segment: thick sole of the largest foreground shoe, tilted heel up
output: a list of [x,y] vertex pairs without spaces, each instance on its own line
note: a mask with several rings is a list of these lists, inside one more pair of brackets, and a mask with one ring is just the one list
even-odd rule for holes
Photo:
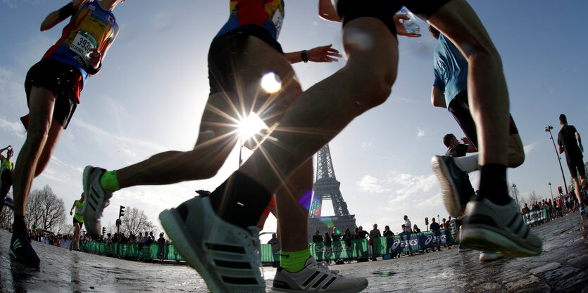
[[[187,228],[184,226],[184,222],[180,219],[175,209],[162,211],[159,214],[159,221],[161,221],[163,230],[165,230],[165,233],[168,233],[168,237],[173,241],[173,245],[177,249],[177,252],[180,253],[180,256],[182,256],[182,259],[198,271],[211,292],[230,292],[230,289],[234,289],[227,289],[223,285],[224,282],[217,277],[213,268],[208,266],[208,259],[204,256],[204,250],[199,241],[187,233]],[[265,292],[265,286],[263,288],[259,287],[258,289],[254,287],[239,289],[240,291]]]

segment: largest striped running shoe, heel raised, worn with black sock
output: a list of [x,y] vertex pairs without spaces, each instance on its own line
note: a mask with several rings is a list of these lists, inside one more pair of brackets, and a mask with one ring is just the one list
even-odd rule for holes
[[194,197],[159,214],[182,258],[212,292],[265,292],[259,228],[247,230],[220,219],[210,197]]

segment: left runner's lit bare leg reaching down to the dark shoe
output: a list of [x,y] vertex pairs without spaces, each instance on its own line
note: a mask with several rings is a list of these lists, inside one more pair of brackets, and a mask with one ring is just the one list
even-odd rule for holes
[[25,215],[37,162],[49,136],[55,97],[48,89],[33,86],[30,93],[30,120],[27,138],[20,149],[13,174],[14,214]]

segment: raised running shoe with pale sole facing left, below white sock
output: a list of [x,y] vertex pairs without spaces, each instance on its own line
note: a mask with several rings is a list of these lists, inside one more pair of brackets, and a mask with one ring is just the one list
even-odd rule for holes
[[458,218],[471,197],[471,194],[465,194],[462,188],[463,178],[467,174],[459,169],[453,157],[434,156],[431,159],[431,167],[441,184],[441,196],[445,208],[451,216]]

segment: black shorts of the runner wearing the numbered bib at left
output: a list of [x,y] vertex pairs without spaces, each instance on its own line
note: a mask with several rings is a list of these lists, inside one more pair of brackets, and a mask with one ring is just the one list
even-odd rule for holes
[[[32,65],[25,79],[25,91],[27,93],[27,105],[30,102],[32,86],[49,89],[55,96],[53,119],[63,129],[68,127],[73,112],[77,107],[82,91],[82,75],[80,70],[73,65],[46,58]],[[20,118],[28,129],[28,115]]]

